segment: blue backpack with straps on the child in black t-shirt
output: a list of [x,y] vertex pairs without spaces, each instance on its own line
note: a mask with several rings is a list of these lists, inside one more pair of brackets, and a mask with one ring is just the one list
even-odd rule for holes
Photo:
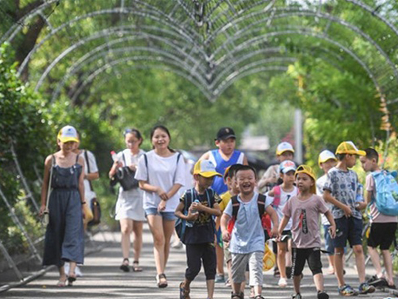
[[[206,198],[207,198],[207,203],[208,207],[211,208],[211,198],[214,197],[215,191],[213,189],[206,189]],[[185,191],[184,195],[184,210],[183,214],[188,215],[188,209],[191,206],[191,203],[195,201],[195,199],[198,198],[198,193],[195,191],[194,188],[189,189]],[[185,244],[185,233],[186,233],[186,228],[187,227],[193,227],[194,223],[192,221],[186,221],[185,219],[178,218],[175,224],[175,229],[177,236],[180,238],[180,241]],[[211,225],[213,228],[215,227],[214,225],[214,220],[211,219]]]

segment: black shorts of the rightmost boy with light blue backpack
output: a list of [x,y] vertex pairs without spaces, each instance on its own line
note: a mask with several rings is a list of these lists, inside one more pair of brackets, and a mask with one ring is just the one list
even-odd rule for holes
[[372,223],[368,238],[368,246],[376,248],[380,246],[381,250],[388,250],[394,242],[397,222]]

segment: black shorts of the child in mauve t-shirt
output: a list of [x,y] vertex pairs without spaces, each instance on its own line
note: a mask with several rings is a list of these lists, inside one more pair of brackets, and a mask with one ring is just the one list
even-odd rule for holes
[[320,248],[292,248],[292,273],[299,276],[308,261],[312,275],[322,273],[322,262],[320,261]]

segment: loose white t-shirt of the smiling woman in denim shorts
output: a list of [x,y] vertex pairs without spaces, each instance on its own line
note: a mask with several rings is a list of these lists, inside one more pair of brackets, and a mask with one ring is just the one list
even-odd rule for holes
[[[135,178],[147,181],[152,186],[161,187],[165,192],[168,192],[174,184],[184,186],[186,181],[185,163],[182,155],[177,163],[178,155],[179,153],[176,152],[170,157],[165,158],[157,155],[153,150],[147,152],[148,168],[145,165],[145,156],[140,157]],[[144,191],[144,209],[157,209],[160,201],[161,199],[156,192]],[[176,192],[173,197],[166,201],[164,212],[174,212],[178,203],[179,192]]]

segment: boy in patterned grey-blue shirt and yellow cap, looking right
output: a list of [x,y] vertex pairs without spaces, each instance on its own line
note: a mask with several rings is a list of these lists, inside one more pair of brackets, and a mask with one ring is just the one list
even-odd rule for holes
[[327,173],[327,179],[323,186],[323,199],[330,202],[333,218],[337,226],[336,238],[333,240],[335,247],[334,264],[338,281],[338,291],[343,296],[357,295],[344,281],[344,247],[347,240],[355,253],[355,262],[358,270],[359,293],[367,294],[375,291],[375,287],[365,282],[365,257],[362,249],[362,214],[360,209],[366,205],[357,201],[362,198],[359,188],[358,176],[349,168],[356,164],[357,156],[364,156],[363,150],[357,149],[352,141],[342,142],[336,150],[338,163]]

